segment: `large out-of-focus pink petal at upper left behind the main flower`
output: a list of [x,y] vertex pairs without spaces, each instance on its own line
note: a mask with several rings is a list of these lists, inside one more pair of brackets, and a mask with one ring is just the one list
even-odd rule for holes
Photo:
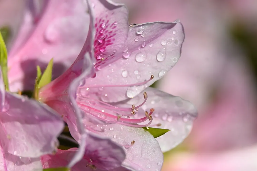
[[48,2],[26,43],[9,54],[12,91],[34,88],[36,65],[44,69],[53,57],[54,78],[70,67],[86,40],[89,25],[86,8],[80,0]]

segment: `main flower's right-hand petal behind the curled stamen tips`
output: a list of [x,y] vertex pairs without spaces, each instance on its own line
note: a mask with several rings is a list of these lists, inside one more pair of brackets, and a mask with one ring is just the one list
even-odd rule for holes
[[[144,111],[149,111],[151,108],[154,108],[152,114],[153,121],[149,127],[171,130],[156,138],[162,152],[167,152],[180,144],[190,133],[193,121],[197,117],[196,108],[187,100],[151,87],[148,87],[145,92],[148,95],[148,99],[142,107],[138,108],[137,115],[134,117],[140,118],[145,115]],[[130,100],[119,102],[114,106],[131,107],[131,105],[139,103],[141,98],[143,100],[142,95],[139,95]],[[146,121],[146,123],[148,122],[149,121]],[[144,125],[145,123],[139,124]]]

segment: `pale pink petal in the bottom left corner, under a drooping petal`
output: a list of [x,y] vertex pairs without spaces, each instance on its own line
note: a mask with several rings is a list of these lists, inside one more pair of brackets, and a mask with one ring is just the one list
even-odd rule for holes
[[[1,143],[1,142],[0,142]],[[14,156],[2,148],[0,145],[0,170],[3,171],[28,171],[42,169],[40,158],[26,158]]]

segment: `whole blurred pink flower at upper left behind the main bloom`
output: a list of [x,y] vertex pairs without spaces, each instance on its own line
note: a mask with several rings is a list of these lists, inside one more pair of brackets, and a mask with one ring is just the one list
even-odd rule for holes
[[[89,15],[83,1],[29,0],[1,4],[0,11],[4,13],[1,16],[7,17],[1,17],[0,27],[9,27],[11,35],[15,36],[8,45],[11,91],[33,89],[36,65],[45,68],[52,57],[53,77],[66,71],[76,59],[88,32]],[[5,14],[7,12],[10,15]]]

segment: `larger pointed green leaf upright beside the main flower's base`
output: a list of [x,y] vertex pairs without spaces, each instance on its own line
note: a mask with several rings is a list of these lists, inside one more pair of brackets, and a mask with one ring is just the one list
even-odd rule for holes
[[38,81],[38,89],[47,85],[52,81],[52,70],[53,70],[53,58],[50,60],[47,68],[45,69],[43,75],[41,76],[40,80]]

